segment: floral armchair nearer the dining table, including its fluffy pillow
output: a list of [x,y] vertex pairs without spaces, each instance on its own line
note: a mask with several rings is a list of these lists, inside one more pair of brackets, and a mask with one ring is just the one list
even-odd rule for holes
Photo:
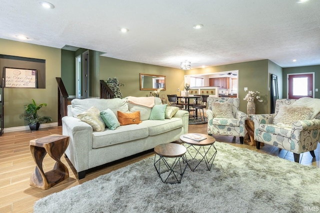
[[239,136],[240,143],[243,144],[247,115],[239,111],[239,99],[208,97],[207,106],[208,134]]

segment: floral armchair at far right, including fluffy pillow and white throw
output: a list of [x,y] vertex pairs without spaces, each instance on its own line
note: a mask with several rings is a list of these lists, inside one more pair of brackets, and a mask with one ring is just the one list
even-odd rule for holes
[[320,136],[320,99],[278,99],[274,114],[251,115],[256,148],[260,142],[293,152],[299,163],[300,153],[314,151]]

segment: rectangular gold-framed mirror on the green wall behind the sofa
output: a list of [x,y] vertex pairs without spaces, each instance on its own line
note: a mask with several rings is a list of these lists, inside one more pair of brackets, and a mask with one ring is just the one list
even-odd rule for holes
[[140,73],[140,90],[165,90],[165,76]]

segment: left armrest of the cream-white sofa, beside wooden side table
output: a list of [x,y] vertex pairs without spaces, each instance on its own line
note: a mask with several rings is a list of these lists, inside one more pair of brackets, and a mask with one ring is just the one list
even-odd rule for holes
[[62,118],[62,135],[69,136],[69,145],[65,151],[77,172],[89,168],[89,151],[92,149],[92,127],[78,118]]

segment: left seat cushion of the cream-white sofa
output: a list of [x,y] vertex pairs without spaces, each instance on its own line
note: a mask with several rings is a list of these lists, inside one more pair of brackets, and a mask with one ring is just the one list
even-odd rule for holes
[[[97,149],[114,144],[125,143],[148,137],[148,128],[142,124],[119,126],[115,130],[105,129],[103,132],[93,132],[92,148]],[[123,150],[125,152],[125,150]]]

